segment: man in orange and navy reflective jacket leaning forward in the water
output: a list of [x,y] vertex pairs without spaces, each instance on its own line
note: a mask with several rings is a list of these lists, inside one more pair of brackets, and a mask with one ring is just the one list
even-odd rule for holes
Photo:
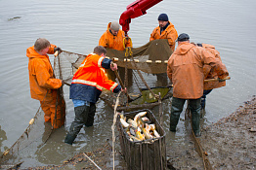
[[75,72],[70,85],[70,99],[73,101],[75,118],[64,139],[72,145],[83,125],[92,126],[98,101],[103,88],[119,92],[121,86],[108,80],[105,69],[117,70],[117,65],[106,58],[106,49],[97,46],[93,53],[87,55],[81,66]]

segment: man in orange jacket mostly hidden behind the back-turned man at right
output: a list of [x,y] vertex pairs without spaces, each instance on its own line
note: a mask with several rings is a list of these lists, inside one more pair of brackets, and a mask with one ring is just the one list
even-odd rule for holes
[[[217,51],[214,46],[208,45],[208,44],[194,44],[194,45],[197,47],[204,48],[206,51],[211,52],[216,58],[218,58],[220,61],[222,61],[220,52]],[[204,74],[204,80],[218,78],[216,70],[214,68],[210,67],[209,65],[203,66],[203,74]],[[219,88],[219,87],[222,87],[225,85],[226,85],[226,81],[205,82],[203,84],[203,95],[201,97],[201,109],[205,109],[206,95],[208,95],[212,91],[213,88]]]

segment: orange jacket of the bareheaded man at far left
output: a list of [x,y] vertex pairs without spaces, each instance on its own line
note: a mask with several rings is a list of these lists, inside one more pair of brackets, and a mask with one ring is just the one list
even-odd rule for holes
[[[47,53],[53,54],[55,45]],[[62,86],[60,79],[55,79],[49,56],[41,55],[30,47],[26,50],[31,98],[40,101],[52,100],[52,90]],[[48,91],[48,92],[47,92]],[[47,96],[46,96],[47,93]]]

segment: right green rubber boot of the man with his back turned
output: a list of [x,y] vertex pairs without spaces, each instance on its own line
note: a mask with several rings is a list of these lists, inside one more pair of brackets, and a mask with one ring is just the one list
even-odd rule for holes
[[190,100],[190,109],[192,112],[192,130],[195,137],[200,137],[200,99]]

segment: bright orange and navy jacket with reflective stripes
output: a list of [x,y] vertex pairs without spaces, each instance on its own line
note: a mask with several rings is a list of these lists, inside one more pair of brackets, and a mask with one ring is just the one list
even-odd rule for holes
[[110,62],[110,59],[95,53],[87,55],[73,76],[69,98],[96,103],[104,88],[118,92],[121,86],[108,80],[105,74]]

